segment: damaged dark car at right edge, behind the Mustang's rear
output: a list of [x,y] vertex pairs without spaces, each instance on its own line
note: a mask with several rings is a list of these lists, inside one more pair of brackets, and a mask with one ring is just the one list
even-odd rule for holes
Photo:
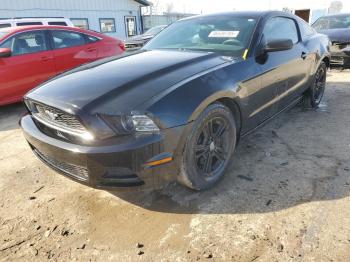
[[329,37],[331,64],[350,68],[350,14],[323,16],[312,26]]

